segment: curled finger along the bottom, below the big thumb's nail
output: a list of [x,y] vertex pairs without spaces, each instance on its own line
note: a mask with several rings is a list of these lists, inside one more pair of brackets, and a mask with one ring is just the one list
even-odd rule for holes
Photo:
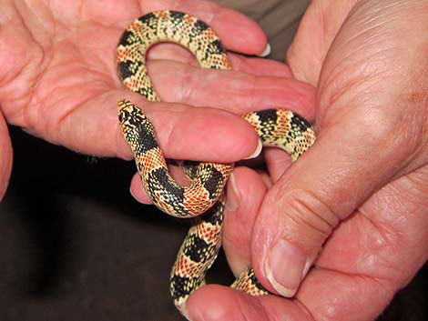
[[204,286],[189,297],[189,316],[193,321],[375,319],[427,259],[427,176],[425,166],[394,181],[365,203],[365,215],[343,222],[294,299]]

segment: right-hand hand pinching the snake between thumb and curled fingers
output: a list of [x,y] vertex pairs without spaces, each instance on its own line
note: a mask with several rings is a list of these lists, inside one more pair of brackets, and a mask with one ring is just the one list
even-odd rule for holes
[[235,170],[223,238],[235,275],[251,263],[272,293],[298,291],[203,286],[193,321],[372,320],[412,279],[428,255],[427,35],[425,1],[311,3],[288,60],[318,87],[318,140],[283,175],[267,151],[269,189]]

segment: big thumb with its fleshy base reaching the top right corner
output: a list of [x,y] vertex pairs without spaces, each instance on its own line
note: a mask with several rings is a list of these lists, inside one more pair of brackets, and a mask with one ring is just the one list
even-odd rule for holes
[[422,2],[396,2],[379,15],[387,4],[361,2],[341,26],[319,77],[318,140],[260,206],[251,261],[263,286],[282,296],[294,295],[341,220],[427,162],[426,17]]

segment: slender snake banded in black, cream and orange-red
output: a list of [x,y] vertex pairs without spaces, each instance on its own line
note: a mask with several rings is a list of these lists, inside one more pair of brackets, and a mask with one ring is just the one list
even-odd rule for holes
[[[219,36],[199,18],[162,10],[138,17],[127,26],[117,45],[117,74],[122,84],[148,101],[160,98],[151,84],[146,56],[151,45],[172,42],[188,48],[200,67],[232,69]],[[143,109],[127,99],[117,102],[121,132],[129,145],[148,196],[170,216],[193,217],[171,270],[169,289],[174,304],[185,313],[188,297],[205,284],[209,267],[219,254],[225,207],[225,186],[233,164],[182,161],[189,184],[180,185],[169,174],[154,126]],[[261,109],[242,117],[254,127],[263,146],[276,146],[295,161],[314,144],[316,134],[301,115],[283,108]],[[191,124],[191,119],[189,119]],[[201,142],[203,144],[203,142]],[[269,294],[249,266],[231,285],[252,296]]]

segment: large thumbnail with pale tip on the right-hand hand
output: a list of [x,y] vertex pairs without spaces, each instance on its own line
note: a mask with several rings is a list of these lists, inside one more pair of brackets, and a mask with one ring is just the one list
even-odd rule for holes
[[281,296],[291,297],[301,283],[305,264],[306,255],[301,248],[280,239],[270,249],[265,273],[270,284]]

